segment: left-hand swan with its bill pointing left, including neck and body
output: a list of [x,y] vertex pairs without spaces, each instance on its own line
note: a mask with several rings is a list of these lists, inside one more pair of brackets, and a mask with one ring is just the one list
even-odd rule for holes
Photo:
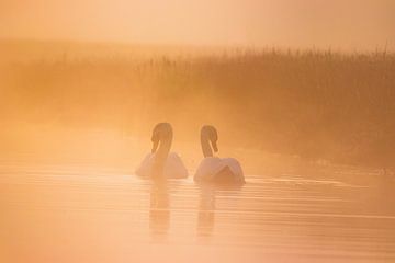
[[[153,150],[143,160],[136,174],[140,178],[188,178],[188,171],[181,158],[170,152],[172,127],[169,123],[159,123],[153,130]],[[160,142],[160,144],[159,144]]]

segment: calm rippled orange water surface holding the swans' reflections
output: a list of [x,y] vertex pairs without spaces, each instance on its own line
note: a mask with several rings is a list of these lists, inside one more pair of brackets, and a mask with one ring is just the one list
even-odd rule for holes
[[394,179],[330,169],[233,188],[2,160],[0,262],[395,262]]

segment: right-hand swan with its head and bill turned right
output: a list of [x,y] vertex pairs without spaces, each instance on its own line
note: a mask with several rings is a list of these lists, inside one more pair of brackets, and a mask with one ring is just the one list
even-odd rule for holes
[[[196,170],[194,181],[244,184],[242,169],[236,159],[213,157],[213,150],[218,151],[217,140],[218,134],[215,127],[210,125],[202,127],[201,145],[204,159]],[[210,146],[210,141],[212,146]]]

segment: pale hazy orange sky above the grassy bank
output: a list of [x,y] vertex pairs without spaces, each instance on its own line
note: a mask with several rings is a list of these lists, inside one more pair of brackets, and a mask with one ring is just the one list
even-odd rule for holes
[[0,37],[395,49],[395,1],[1,0]]

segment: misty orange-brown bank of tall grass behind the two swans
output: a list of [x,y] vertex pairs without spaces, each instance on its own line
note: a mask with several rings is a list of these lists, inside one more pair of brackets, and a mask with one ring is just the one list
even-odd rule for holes
[[1,64],[1,118],[135,135],[169,121],[184,140],[212,123],[235,147],[395,163],[394,54],[238,49],[71,57]]

